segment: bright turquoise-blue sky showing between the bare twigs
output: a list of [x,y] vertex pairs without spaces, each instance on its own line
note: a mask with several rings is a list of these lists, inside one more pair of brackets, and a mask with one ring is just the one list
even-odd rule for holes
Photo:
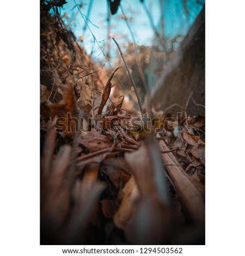
[[[95,38],[100,44],[100,47],[94,41],[93,35],[87,28],[84,34],[84,20],[82,15],[87,15],[90,0],[66,0],[68,2],[61,9],[61,14],[67,13],[69,20],[72,21],[72,31],[77,38],[83,35],[83,46],[88,54],[92,54],[94,59],[102,59],[103,51],[106,52],[107,44],[107,0],[93,0],[91,6],[91,12],[88,22],[88,26]],[[159,0],[144,0],[146,7],[151,13],[154,25],[157,29],[160,29],[160,1]],[[202,6],[200,4],[193,4],[195,0],[187,0],[187,10],[191,15],[187,19],[185,10],[183,9],[182,0],[164,0],[163,1],[163,13],[164,13],[164,29],[167,37],[174,37],[177,34],[186,34],[189,26],[195,20],[195,17],[199,14]],[[205,2],[205,1],[200,1]],[[75,7],[75,3],[78,5],[82,3],[81,13]],[[75,8],[74,8],[75,7]],[[150,25],[149,17],[146,15],[145,10],[139,0],[121,0],[121,7],[124,10],[130,23],[130,27],[134,34],[137,44],[139,45],[152,45],[152,39],[154,38],[154,31]],[[129,40],[133,42],[130,31],[127,28],[126,22],[121,19],[121,10],[118,9],[117,14],[111,16],[111,35],[114,36],[118,43],[123,47],[125,42]],[[111,54],[115,56],[117,47],[111,40],[109,42],[111,46]]]

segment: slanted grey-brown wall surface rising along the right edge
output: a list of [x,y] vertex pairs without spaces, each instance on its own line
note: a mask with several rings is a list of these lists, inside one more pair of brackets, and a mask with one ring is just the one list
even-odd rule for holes
[[[152,97],[153,102],[161,103],[164,110],[174,103],[185,107],[192,92],[195,102],[205,105],[205,6],[160,78]],[[181,110],[175,107],[171,112]],[[205,108],[195,105],[192,99],[186,110],[191,115],[205,115]]]

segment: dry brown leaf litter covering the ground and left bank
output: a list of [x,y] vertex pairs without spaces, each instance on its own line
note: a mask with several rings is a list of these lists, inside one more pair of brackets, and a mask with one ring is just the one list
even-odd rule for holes
[[41,21],[41,70],[55,80],[41,80],[41,244],[204,244],[205,118],[168,125],[161,112],[163,125],[132,134],[137,113],[111,95],[119,68],[98,75],[65,28],[48,32],[52,21]]

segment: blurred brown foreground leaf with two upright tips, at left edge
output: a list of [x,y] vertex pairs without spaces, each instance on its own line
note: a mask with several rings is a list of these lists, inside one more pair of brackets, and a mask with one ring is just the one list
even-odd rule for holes
[[[51,126],[52,127],[52,126]],[[70,162],[71,146],[63,145],[53,160],[55,132],[54,127],[48,128],[44,155],[41,159],[41,234],[51,235],[50,241],[58,239],[58,227],[62,225],[70,208],[69,186],[66,186],[66,170]],[[51,129],[51,130],[50,130]],[[49,167],[48,167],[49,166]],[[48,170],[48,172],[47,172]],[[54,235],[55,234],[55,235]]]

